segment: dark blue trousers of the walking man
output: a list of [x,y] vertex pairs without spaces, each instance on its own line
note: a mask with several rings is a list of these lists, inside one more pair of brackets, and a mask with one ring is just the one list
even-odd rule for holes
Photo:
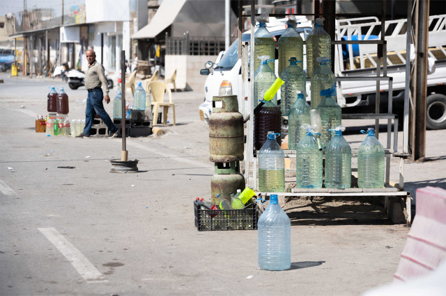
[[99,115],[101,120],[104,120],[111,133],[116,132],[118,129],[114,126],[107,112],[105,112],[104,104],[102,104],[104,100],[102,88],[93,88],[93,90],[88,91],[89,96],[86,99],[84,135],[90,135],[91,126],[93,125],[96,114]]

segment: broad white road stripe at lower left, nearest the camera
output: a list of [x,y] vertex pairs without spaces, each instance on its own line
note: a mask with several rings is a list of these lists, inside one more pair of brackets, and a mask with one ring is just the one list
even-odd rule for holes
[[89,283],[106,282],[104,274],[87,259],[75,246],[53,227],[38,228],[52,244],[70,261],[77,272]]

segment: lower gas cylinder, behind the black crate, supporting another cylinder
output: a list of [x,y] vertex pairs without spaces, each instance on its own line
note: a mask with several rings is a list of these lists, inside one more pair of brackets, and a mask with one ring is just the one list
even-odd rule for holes
[[217,203],[217,195],[231,202],[230,194],[236,194],[237,189],[245,189],[245,177],[240,174],[240,163],[215,163],[215,174],[210,179],[211,201]]

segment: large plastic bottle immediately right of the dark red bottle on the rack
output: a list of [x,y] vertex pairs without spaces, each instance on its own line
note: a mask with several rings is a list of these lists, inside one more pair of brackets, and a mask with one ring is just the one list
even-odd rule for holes
[[306,131],[301,129],[302,124],[310,124],[310,107],[305,99],[308,97],[306,92],[300,92],[298,99],[288,113],[288,147],[295,150],[300,140],[305,137]]

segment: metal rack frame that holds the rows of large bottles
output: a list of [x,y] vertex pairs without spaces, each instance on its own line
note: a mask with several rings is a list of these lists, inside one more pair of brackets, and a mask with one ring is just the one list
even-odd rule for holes
[[[408,0],[408,20],[407,26],[410,28],[411,24],[411,16],[412,16],[412,2],[413,0]],[[240,11],[239,11],[239,25],[241,23],[243,8],[240,3]],[[381,17],[381,35],[380,40],[332,40],[332,45],[338,44],[376,44],[378,47],[377,50],[377,60],[376,64],[380,65],[381,59],[383,60],[383,70],[381,75],[381,67],[376,67],[376,76],[341,76],[337,77],[338,82],[342,81],[376,81],[376,105],[375,105],[375,113],[372,114],[343,114],[342,119],[356,119],[356,120],[375,120],[375,129],[379,130],[379,120],[387,120],[387,145],[385,149],[385,188],[378,189],[361,189],[361,188],[348,188],[348,189],[298,189],[293,188],[292,192],[274,192],[279,196],[289,196],[289,197],[298,197],[298,196],[330,196],[330,197],[340,197],[340,196],[355,196],[355,197],[365,197],[365,196],[383,196],[385,197],[385,207],[388,208],[388,197],[406,197],[406,220],[407,223],[410,224],[410,194],[408,192],[404,192],[403,190],[403,181],[404,181],[404,159],[408,158],[408,113],[409,113],[409,76],[410,76],[410,63],[406,63],[406,97],[404,100],[404,128],[403,128],[403,153],[398,152],[398,121],[399,118],[397,115],[392,114],[392,83],[393,79],[390,76],[387,76],[387,42],[385,41],[385,3],[386,0],[381,1],[382,9],[380,15],[372,15],[372,14],[336,14],[334,16],[380,16]],[[251,3],[251,11],[255,11],[255,0]],[[286,17],[288,15],[333,15],[329,13],[322,14],[271,14],[270,16],[275,17]],[[243,17],[251,17],[251,15],[244,15]],[[244,98],[247,97],[248,100],[248,112],[251,119],[254,118],[254,104],[252,99],[252,94],[254,93],[254,26],[255,22],[252,18],[252,26],[251,26],[251,40],[250,44],[250,77],[247,79],[247,64],[248,64],[248,55],[247,55],[247,42],[241,42],[239,38],[239,58],[242,59],[242,76],[243,76],[243,112],[245,112]],[[239,26],[240,29],[240,26]],[[241,35],[241,31],[239,31],[239,37]],[[332,36],[333,37],[333,36]],[[335,36],[334,36],[335,38]],[[407,39],[406,39],[406,56],[410,56],[410,30],[407,30]],[[304,42],[305,43],[305,42]],[[339,58],[336,54],[332,53],[332,58]],[[307,79],[308,81],[309,79]],[[388,81],[389,90],[388,90],[388,111],[387,113],[379,113],[380,107],[380,81]],[[249,92],[245,94],[245,83],[249,83]],[[394,125],[394,145],[392,146],[392,120]],[[253,143],[253,128],[252,128],[253,120],[249,120],[247,122],[247,145],[245,147],[245,178],[247,186],[251,186],[254,190],[258,190],[257,186],[257,158],[254,156],[254,143]],[[376,138],[378,138],[378,133],[376,133]],[[295,157],[295,151],[284,150],[286,158]],[[357,156],[357,151],[355,149],[352,150],[352,156]],[[399,188],[395,188],[390,186],[390,159],[391,158],[400,158],[399,165]],[[252,170],[252,176],[250,175],[250,171]],[[355,169],[352,170],[354,172]],[[259,192],[259,195],[268,197],[272,192]]]

